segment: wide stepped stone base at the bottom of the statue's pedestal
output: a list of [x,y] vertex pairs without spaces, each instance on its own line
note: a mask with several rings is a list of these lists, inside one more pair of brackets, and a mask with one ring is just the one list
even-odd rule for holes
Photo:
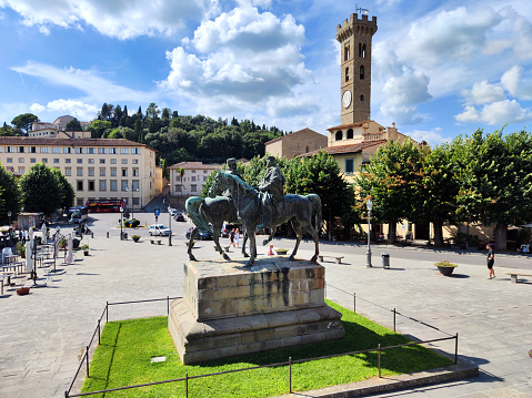
[[168,329],[183,364],[342,338],[342,314],[328,305],[198,322],[183,298],[172,302]]

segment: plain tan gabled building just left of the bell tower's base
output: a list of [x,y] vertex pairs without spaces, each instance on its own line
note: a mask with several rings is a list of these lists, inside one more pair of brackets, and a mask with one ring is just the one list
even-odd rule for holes
[[303,129],[264,143],[265,153],[292,159],[303,153],[327,147],[327,136],[311,129]]

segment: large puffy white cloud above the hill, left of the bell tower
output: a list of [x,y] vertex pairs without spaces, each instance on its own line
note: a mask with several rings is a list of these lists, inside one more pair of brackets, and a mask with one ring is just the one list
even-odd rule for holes
[[193,96],[198,105],[268,108],[274,114],[272,99],[293,98],[293,89],[310,79],[303,42],[304,28],[292,16],[235,8],[201,23],[189,42],[195,52],[167,52],[171,72],[160,86]]

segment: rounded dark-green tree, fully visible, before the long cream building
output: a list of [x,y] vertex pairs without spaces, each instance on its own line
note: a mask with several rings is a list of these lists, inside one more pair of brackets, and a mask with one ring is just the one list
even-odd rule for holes
[[26,212],[43,212],[49,216],[61,207],[61,187],[56,174],[44,163],[34,164],[20,177],[19,185]]

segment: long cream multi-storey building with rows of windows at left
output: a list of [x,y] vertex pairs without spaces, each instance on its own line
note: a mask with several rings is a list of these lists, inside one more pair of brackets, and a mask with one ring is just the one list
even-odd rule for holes
[[0,137],[0,163],[16,175],[43,162],[59,169],[72,185],[74,205],[88,200],[123,198],[141,208],[160,193],[155,151],[117,139]]

